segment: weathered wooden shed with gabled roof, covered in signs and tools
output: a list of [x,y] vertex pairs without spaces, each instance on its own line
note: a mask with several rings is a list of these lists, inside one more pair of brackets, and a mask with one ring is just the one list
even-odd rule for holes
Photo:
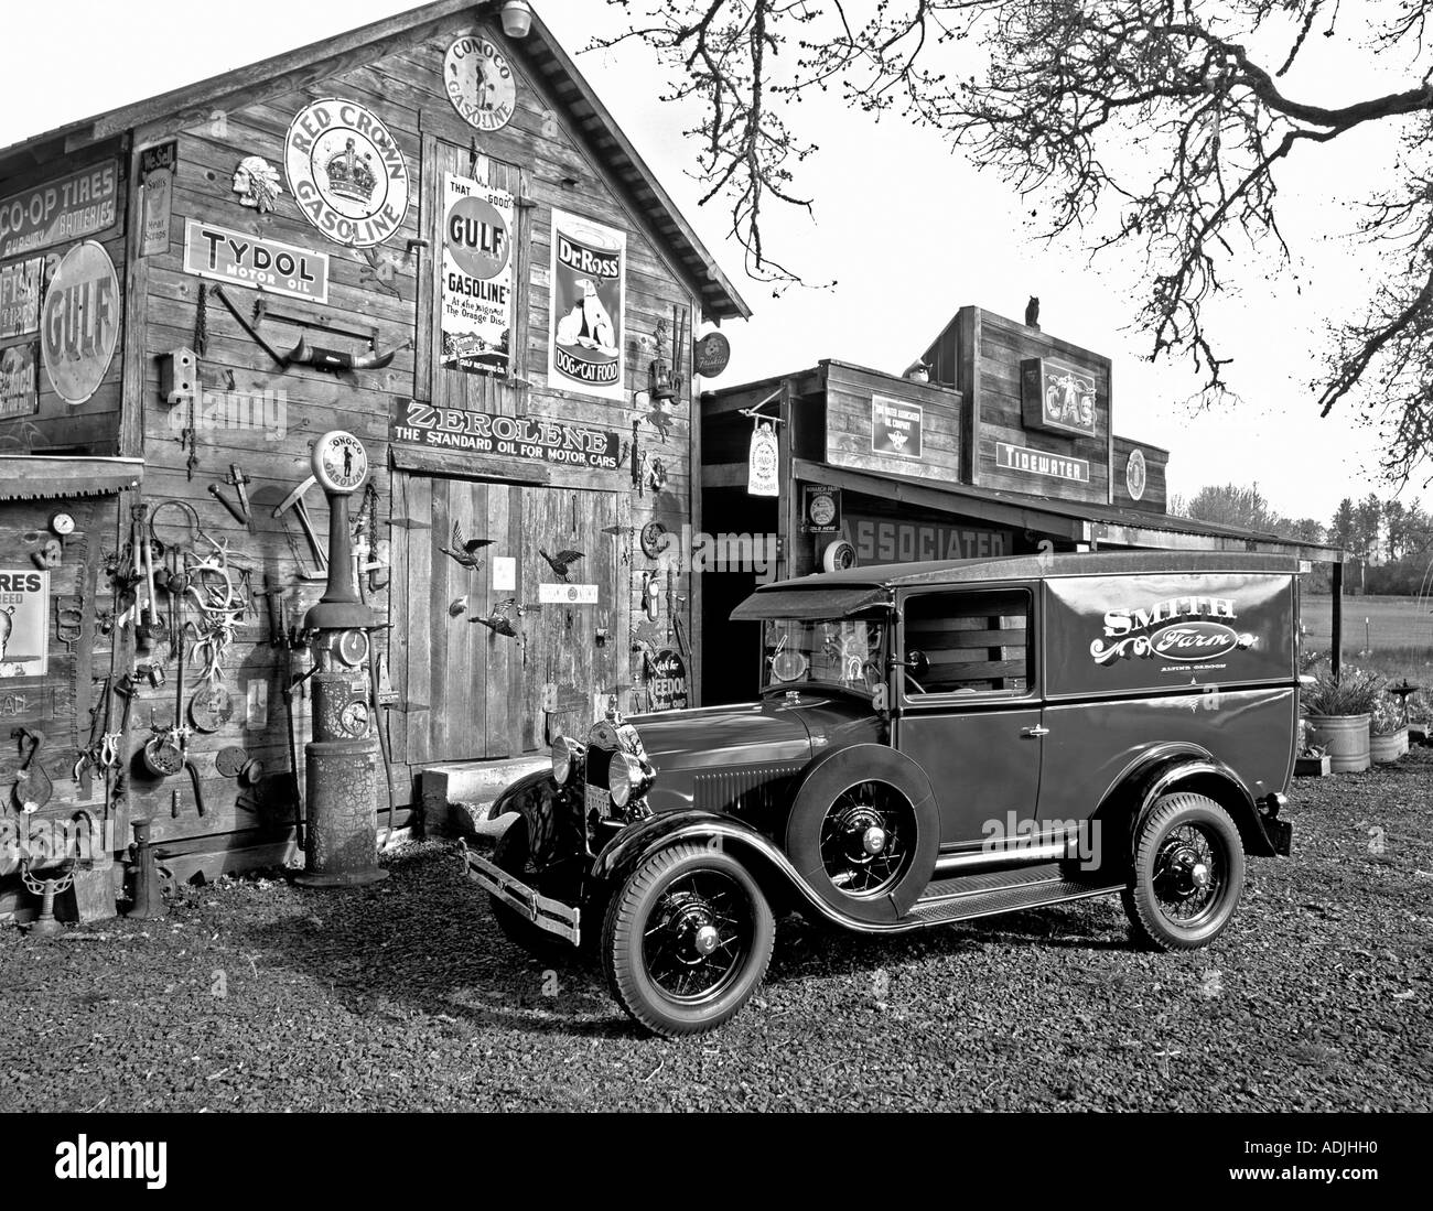
[[[0,608],[40,645],[0,655],[0,911],[44,820],[115,853],[152,818],[181,877],[292,853],[328,526],[298,489],[328,430],[375,467],[355,540],[400,827],[426,771],[506,781],[609,695],[681,705],[651,682],[663,654],[698,674],[701,583],[639,536],[701,526],[694,337],[749,312],[540,17],[509,37],[500,7],[0,150]],[[166,727],[192,785],[140,760]],[[24,813],[27,761],[50,794]]]

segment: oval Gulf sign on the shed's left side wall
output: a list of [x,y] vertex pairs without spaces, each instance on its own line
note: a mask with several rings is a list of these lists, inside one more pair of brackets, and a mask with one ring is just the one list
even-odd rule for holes
[[50,278],[40,353],[54,394],[83,404],[99,388],[119,344],[119,278],[93,239],[76,244]]

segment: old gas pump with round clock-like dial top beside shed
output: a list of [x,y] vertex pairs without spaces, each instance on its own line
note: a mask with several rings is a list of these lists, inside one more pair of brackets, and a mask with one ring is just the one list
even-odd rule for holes
[[374,612],[358,600],[348,497],[368,479],[368,453],[351,433],[314,443],[314,479],[328,497],[328,588],[304,616],[312,636],[314,738],[304,747],[308,787],[305,887],[357,887],[387,879],[378,850],[378,737],[368,689]]

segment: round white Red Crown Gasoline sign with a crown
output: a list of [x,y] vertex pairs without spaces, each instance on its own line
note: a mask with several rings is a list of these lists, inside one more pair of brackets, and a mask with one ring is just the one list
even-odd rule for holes
[[284,168],[304,218],[338,244],[383,244],[408,214],[403,149],[357,102],[324,97],[295,113],[284,140]]

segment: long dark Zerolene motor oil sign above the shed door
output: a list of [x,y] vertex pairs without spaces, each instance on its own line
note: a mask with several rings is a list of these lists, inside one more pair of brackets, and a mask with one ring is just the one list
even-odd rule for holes
[[394,400],[391,440],[431,450],[471,450],[565,467],[615,472],[616,433],[536,416],[496,416]]

